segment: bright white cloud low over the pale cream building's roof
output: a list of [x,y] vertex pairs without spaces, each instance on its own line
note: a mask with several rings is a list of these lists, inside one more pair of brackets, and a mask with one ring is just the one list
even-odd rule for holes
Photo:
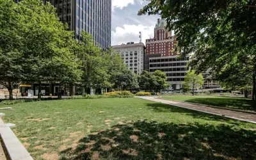
[[122,27],[118,26],[111,32],[111,44],[126,44],[127,42],[140,42],[140,31],[142,32],[142,42],[145,44],[146,39],[154,37],[155,26],[143,26],[124,24]]

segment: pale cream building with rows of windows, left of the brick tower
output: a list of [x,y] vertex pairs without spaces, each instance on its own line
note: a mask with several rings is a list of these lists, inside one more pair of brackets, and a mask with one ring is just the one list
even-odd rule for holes
[[143,43],[128,42],[122,45],[113,45],[113,49],[123,58],[125,65],[134,72],[141,74],[144,66],[145,45]]

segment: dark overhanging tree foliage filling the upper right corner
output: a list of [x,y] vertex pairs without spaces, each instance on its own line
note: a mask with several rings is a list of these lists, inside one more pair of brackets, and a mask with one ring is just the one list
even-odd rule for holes
[[[218,73],[237,58],[250,59],[255,93],[255,0],[151,0],[139,15],[146,13],[166,19],[167,28],[175,31],[179,42],[177,51],[193,53],[189,65],[196,72],[211,68]],[[248,65],[247,61],[243,65]]]

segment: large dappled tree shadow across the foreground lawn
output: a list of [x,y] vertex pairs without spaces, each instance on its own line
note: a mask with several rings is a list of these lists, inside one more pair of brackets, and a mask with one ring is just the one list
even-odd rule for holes
[[132,122],[90,134],[61,159],[256,159],[255,131],[227,125]]

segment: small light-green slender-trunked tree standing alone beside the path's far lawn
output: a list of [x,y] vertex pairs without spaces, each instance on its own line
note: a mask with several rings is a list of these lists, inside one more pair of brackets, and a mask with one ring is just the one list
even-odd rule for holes
[[204,77],[202,74],[196,74],[195,70],[188,70],[183,83],[186,87],[192,86],[192,93],[195,95],[195,88],[200,88],[204,84]]

